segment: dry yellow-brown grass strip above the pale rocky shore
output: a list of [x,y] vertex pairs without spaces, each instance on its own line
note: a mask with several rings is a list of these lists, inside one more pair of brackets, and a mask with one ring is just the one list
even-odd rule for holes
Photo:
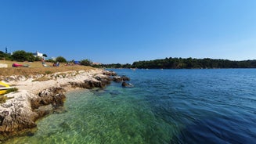
[[[0,60],[0,63],[8,64],[7,68],[0,68],[0,76],[11,76],[11,75],[23,75],[30,76],[36,74],[52,74],[56,72],[65,72],[70,70],[93,70],[93,67],[85,67],[85,66],[64,66],[64,63],[60,63],[60,67],[43,67],[41,62],[33,62],[33,63],[20,63],[19,64],[29,64],[31,67],[11,67],[13,65],[13,61],[4,61]],[[46,63],[49,66],[52,66],[51,63]],[[10,66],[9,66],[10,65]]]

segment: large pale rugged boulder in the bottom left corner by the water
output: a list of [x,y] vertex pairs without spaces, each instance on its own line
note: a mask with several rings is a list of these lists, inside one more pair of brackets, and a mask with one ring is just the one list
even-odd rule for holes
[[34,121],[38,114],[31,109],[30,96],[27,92],[10,94],[13,99],[8,99],[0,106],[0,134],[5,139],[9,135],[16,135],[18,131],[34,128]]

